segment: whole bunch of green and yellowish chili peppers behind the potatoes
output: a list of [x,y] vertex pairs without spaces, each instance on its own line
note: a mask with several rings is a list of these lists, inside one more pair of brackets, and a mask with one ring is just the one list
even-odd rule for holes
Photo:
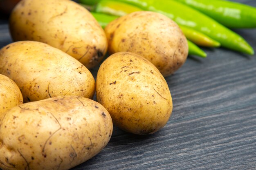
[[[255,28],[256,8],[225,0],[80,0],[106,26],[113,16],[134,11],[155,11],[174,20],[189,40],[189,54],[206,57],[196,45],[222,46],[254,55],[252,47],[228,28]],[[88,7],[88,6],[86,6]],[[196,45],[195,45],[196,44]]]

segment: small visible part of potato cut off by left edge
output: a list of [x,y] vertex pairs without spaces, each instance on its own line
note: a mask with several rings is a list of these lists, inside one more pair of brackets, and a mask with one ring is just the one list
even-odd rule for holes
[[22,103],[23,98],[18,86],[9,77],[0,74],[0,115]]

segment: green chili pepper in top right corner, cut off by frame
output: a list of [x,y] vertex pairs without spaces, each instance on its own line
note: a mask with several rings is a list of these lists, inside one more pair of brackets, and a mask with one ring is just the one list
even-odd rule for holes
[[230,28],[255,28],[256,8],[226,0],[177,0]]

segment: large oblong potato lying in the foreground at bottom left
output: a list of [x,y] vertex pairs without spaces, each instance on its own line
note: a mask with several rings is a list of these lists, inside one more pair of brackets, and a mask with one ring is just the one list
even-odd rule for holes
[[110,140],[108,111],[91,99],[58,96],[0,115],[2,170],[67,170],[96,155]]

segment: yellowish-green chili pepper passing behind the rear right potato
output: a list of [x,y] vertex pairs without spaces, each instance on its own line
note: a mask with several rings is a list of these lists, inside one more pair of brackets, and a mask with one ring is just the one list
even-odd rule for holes
[[[101,0],[95,6],[94,10],[97,13],[106,13],[110,15],[123,16],[128,13],[135,11],[141,11],[142,9],[137,8],[133,5],[126,4],[124,2],[117,2],[113,0]],[[195,31],[194,29],[188,28],[186,26],[180,26],[180,29],[183,31],[184,35],[188,40],[191,40],[193,43],[200,46],[208,47],[218,47],[220,43],[209,38],[207,35]]]

